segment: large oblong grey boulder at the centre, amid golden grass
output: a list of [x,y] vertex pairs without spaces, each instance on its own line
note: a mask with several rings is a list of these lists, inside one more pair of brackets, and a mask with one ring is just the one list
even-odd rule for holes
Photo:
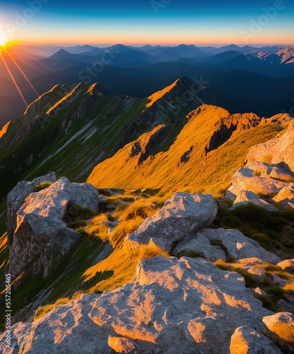
[[176,193],[159,212],[126,237],[124,248],[130,251],[141,244],[155,244],[170,251],[187,234],[211,224],[217,212],[212,195]]

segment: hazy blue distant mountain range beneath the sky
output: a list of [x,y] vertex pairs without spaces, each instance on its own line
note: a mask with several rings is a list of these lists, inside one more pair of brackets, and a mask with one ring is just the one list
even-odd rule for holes
[[[231,113],[254,112],[270,117],[292,107],[293,47],[76,46],[61,48],[49,57],[28,54],[28,50],[11,48],[11,55],[38,93],[56,84],[98,81],[110,96],[144,98],[187,76],[205,86],[208,99],[213,98],[214,104]],[[37,94],[11,57],[5,52],[4,57],[26,101],[35,100]],[[0,72],[0,101],[13,101],[9,106],[1,105],[0,120],[4,125],[20,116],[25,105],[1,63]]]

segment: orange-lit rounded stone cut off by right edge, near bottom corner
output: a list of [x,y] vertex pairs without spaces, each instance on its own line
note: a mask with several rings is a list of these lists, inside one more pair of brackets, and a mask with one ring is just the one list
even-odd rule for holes
[[264,324],[276,333],[283,341],[294,343],[294,314],[290,312],[278,312],[271,316],[265,316]]

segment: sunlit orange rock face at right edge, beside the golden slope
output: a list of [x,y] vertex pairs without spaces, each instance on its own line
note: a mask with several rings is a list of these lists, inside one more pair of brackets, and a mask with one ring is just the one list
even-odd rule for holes
[[249,149],[247,161],[270,161],[271,164],[284,161],[294,171],[294,120],[290,122],[285,134],[282,132],[274,139]]

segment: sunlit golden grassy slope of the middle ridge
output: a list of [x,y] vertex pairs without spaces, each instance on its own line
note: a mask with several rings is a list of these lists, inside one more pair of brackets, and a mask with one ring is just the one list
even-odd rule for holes
[[[251,115],[240,114],[240,121]],[[131,157],[134,147],[131,142],[112,158],[98,164],[90,173],[88,183],[98,188],[161,188],[162,193],[181,190],[222,195],[235,171],[244,166],[249,148],[266,142],[285,128],[261,120],[262,124],[257,127],[236,130],[227,142],[206,154],[205,147],[218,122],[229,116],[223,108],[201,105],[187,115],[187,124],[167,152],[151,155],[139,164],[140,154]],[[236,115],[232,117],[235,119]],[[142,135],[137,142],[146,144],[155,130]]]

